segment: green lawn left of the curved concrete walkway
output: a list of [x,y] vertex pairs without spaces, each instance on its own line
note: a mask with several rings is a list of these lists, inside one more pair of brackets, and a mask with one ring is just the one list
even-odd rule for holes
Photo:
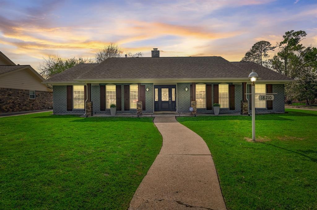
[[152,118],[0,118],[0,209],[127,209],[162,146]]

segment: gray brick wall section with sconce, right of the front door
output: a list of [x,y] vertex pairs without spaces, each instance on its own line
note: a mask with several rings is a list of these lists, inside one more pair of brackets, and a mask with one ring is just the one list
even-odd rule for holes
[[[187,91],[185,87],[188,88]],[[191,107],[191,83],[177,83],[177,111],[190,112],[189,107]]]

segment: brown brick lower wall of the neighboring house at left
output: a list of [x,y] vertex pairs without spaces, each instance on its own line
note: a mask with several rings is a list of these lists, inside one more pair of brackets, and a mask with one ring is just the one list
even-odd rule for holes
[[0,88],[0,113],[52,108],[52,92],[36,90],[35,99],[30,99],[29,90]]

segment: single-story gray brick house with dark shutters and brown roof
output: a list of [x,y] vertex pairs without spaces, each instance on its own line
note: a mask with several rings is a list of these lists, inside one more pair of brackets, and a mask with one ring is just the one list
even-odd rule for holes
[[[220,113],[241,113],[250,103],[245,93],[252,69],[259,75],[256,112],[284,112],[284,84],[292,79],[253,62],[217,56],[159,57],[157,48],[152,57],[80,64],[43,83],[53,86],[54,114],[109,113],[111,104],[117,113],[136,113],[137,101],[143,113],[189,112],[191,101],[197,101],[198,113],[213,113],[213,103],[221,105]],[[273,101],[260,101],[259,93],[277,94]]]

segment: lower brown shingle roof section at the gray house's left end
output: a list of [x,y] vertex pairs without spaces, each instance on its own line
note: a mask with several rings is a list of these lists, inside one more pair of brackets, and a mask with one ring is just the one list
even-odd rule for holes
[[[47,79],[45,82],[69,82],[69,81],[75,81],[75,79],[84,74],[85,72],[91,70],[94,66],[98,65],[98,63],[82,63],[78,64],[76,66],[73,66],[72,68],[69,68],[59,74],[53,75],[49,79]],[[98,78],[98,77],[97,77]]]

